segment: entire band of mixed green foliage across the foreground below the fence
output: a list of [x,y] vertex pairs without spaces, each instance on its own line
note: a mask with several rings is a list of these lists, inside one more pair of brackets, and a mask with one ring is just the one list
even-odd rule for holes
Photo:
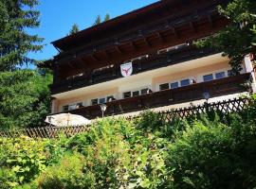
[[255,188],[255,121],[255,106],[171,124],[143,112],[71,138],[0,139],[0,187]]

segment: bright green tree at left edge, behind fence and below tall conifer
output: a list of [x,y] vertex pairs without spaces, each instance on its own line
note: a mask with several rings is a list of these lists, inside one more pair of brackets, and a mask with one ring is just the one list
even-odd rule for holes
[[52,76],[20,70],[0,73],[0,126],[14,129],[42,126],[49,113]]

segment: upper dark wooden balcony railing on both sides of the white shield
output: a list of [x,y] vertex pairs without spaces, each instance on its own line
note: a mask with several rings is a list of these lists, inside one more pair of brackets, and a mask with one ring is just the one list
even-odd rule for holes
[[[174,49],[167,53],[150,55],[149,58],[135,60],[133,62],[133,75],[160,67],[174,65],[187,60],[202,58],[214,53],[216,53],[216,51],[208,48],[198,49],[193,46],[185,46],[179,49]],[[52,94],[64,93],[97,83],[117,79],[119,77],[122,77],[119,66],[113,67],[94,73],[92,76],[74,77],[54,83],[51,87],[51,92]]]

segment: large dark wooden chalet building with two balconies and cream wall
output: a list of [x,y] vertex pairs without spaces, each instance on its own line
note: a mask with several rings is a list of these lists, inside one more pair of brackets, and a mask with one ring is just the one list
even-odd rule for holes
[[[225,3],[163,0],[53,42],[60,54],[45,62],[54,73],[52,113],[93,119],[102,103],[113,115],[246,92],[242,84],[255,80],[249,61],[232,76],[221,52],[192,45],[229,24],[216,10]],[[126,62],[129,77],[121,75]]]

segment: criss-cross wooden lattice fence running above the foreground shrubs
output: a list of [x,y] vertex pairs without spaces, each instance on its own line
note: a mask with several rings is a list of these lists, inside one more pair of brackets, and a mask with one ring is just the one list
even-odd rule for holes
[[[172,122],[174,118],[186,118],[200,113],[209,111],[219,111],[223,113],[241,112],[246,109],[250,100],[248,98],[234,98],[222,102],[205,103],[204,105],[191,106],[183,109],[174,109],[166,112],[156,112],[160,119],[167,122]],[[135,117],[128,117],[133,119]],[[17,129],[9,131],[0,131],[0,137],[18,137],[27,135],[31,138],[55,138],[60,133],[66,136],[72,136],[80,132],[85,132],[90,129],[90,126],[74,126],[74,127],[44,127],[33,129]]]

